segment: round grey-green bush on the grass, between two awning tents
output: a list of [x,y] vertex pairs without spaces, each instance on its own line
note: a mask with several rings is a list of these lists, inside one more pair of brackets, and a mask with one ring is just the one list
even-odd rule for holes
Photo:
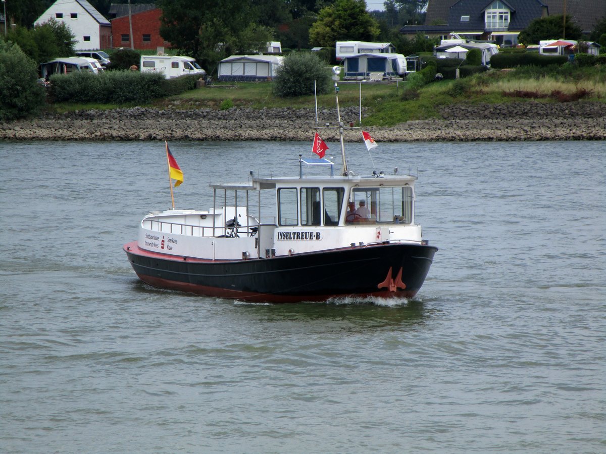
[[314,81],[318,93],[328,93],[330,71],[312,52],[293,52],[284,58],[276,71],[275,93],[281,97],[313,94]]

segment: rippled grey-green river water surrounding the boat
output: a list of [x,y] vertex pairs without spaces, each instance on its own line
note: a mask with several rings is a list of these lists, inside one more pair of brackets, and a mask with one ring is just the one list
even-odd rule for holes
[[[311,143],[170,146],[208,208]],[[137,280],[163,143],[0,142],[0,452],[606,452],[605,151],[380,143],[440,248],[416,299],[271,305]]]

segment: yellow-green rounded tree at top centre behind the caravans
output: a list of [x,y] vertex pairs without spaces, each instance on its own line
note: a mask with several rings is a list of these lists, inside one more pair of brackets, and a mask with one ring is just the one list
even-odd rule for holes
[[311,45],[334,47],[336,41],[373,41],[379,24],[366,11],[364,0],[336,0],[320,10],[318,21],[311,25]]

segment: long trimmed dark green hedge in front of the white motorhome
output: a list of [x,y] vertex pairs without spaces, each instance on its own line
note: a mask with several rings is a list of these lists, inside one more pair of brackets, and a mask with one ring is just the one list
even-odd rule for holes
[[164,79],[158,73],[108,71],[55,74],[50,77],[53,102],[145,103],[196,87],[198,75]]

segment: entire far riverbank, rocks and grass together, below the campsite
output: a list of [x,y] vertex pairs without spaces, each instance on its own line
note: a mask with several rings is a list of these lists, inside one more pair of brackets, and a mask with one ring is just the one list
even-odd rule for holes
[[[606,140],[602,72],[540,83],[482,75],[420,90],[407,82],[341,84],[339,104],[346,125],[380,142]],[[39,117],[0,122],[0,140],[311,140],[314,96],[279,98],[272,90],[268,82],[215,84],[144,107],[49,104]],[[318,96],[320,125],[335,125],[334,105],[334,92]],[[335,140],[338,131],[321,135]],[[347,141],[360,136],[345,130]]]

